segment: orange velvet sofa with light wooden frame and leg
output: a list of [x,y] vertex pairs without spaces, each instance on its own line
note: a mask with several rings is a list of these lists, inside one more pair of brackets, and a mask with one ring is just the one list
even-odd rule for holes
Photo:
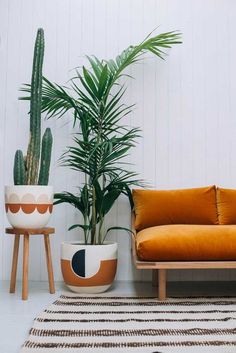
[[134,263],[158,270],[160,300],[167,270],[236,268],[236,190],[135,189],[133,202]]

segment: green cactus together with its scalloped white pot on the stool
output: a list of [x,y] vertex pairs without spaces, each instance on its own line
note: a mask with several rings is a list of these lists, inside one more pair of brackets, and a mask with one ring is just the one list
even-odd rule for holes
[[[48,186],[52,134],[47,128],[41,141],[42,66],[44,31],[38,29],[30,88],[30,138],[26,157],[17,150],[14,159],[14,186],[5,186],[5,207],[15,228],[41,228],[49,221],[53,189]],[[27,98],[28,99],[28,98]]]

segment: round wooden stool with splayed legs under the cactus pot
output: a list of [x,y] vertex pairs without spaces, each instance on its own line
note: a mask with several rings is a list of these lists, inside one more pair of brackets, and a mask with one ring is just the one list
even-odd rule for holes
[[31,235],[36,235],[36,234],[42,234],[44,236],[45,255],[46,255],[47,270],[48,270],[49,292],[51,294],[55,293],[52,257],[51,257],[50,239],[49,239],[49,234],[55,233],[55,229],[49,228],[49,227],[38,228],[38,229],[6,228],[6,233],[15,235],[13,256],[12,256],[10,293],[15,293],[20,236],[23,235],[24,246],[23,246],[22,299],[23,300],[28,299],[29,238]]

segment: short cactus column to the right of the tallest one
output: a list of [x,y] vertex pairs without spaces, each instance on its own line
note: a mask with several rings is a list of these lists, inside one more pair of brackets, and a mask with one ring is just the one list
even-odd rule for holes
[[49,169],[52,153],[52,133],[47,128],[42,138],[41,164],[38,185],[48,185]]

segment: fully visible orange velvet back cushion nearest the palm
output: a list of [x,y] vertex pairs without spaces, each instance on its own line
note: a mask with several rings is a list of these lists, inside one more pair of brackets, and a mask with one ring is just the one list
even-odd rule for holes
[[216,188],[133,190],[135,228],[164,224],[218,224]]

